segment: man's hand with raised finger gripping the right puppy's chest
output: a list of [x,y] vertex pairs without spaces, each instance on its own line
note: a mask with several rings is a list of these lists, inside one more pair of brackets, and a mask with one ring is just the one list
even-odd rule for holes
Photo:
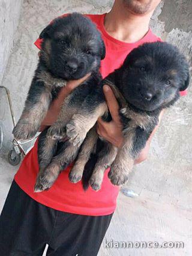
[[103,91],[112,121],[107,123],[99,118],[97,121],[97,133],[116,147],[121,147],[124,137],[122,136],[122,124],[119,117],[119,105],[112,89],[108,85],[104,85]]

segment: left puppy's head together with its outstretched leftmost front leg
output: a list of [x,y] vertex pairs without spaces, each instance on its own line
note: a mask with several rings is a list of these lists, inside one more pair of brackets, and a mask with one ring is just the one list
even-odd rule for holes
[[38,67],[25,108],[13,129],[16,139],[33,138],[61,87],[89,72],[92,76],[88,81],[95,79],[105,55],[100,32],[91,20],[78,13],[55,19],[41,32],[40,38],[44,40]]

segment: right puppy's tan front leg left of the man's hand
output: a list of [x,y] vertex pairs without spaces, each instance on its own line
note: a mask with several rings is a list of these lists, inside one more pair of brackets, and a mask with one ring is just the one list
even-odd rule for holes
[[107,112],[106,102],[97,105],[93,100],[86,99],[77,114],[74,114],[71,121],[66,126],[67,136],[74,145],[81,145],[85,139],[86,133],[97,122],[98,117]]

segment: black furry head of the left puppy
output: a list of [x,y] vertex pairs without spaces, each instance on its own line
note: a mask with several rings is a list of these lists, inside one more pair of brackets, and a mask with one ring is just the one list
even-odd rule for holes
[[[50,41],[50,65],[48,69],[53,76],[66,81],[82,78],[86,73],[98,71],[100,60],[105,56],[105,46],[100,32],[88,17],[73,13],[66,17],[58,18],[48,25],[40,34],[44,38],[42,49],[46,48],[46,41]],[[47,67],[44,56],[40,61]],[[92,63],[96,62],[95,69]],[[78,67],[76,72],[71,72],[67,65],[74,64]]]

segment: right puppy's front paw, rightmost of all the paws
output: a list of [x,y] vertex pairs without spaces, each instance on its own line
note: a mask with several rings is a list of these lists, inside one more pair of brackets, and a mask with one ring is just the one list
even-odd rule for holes
[[112,165],[108,177],[113,185],[120,186],[128,180],[128,172],[118,165]]

